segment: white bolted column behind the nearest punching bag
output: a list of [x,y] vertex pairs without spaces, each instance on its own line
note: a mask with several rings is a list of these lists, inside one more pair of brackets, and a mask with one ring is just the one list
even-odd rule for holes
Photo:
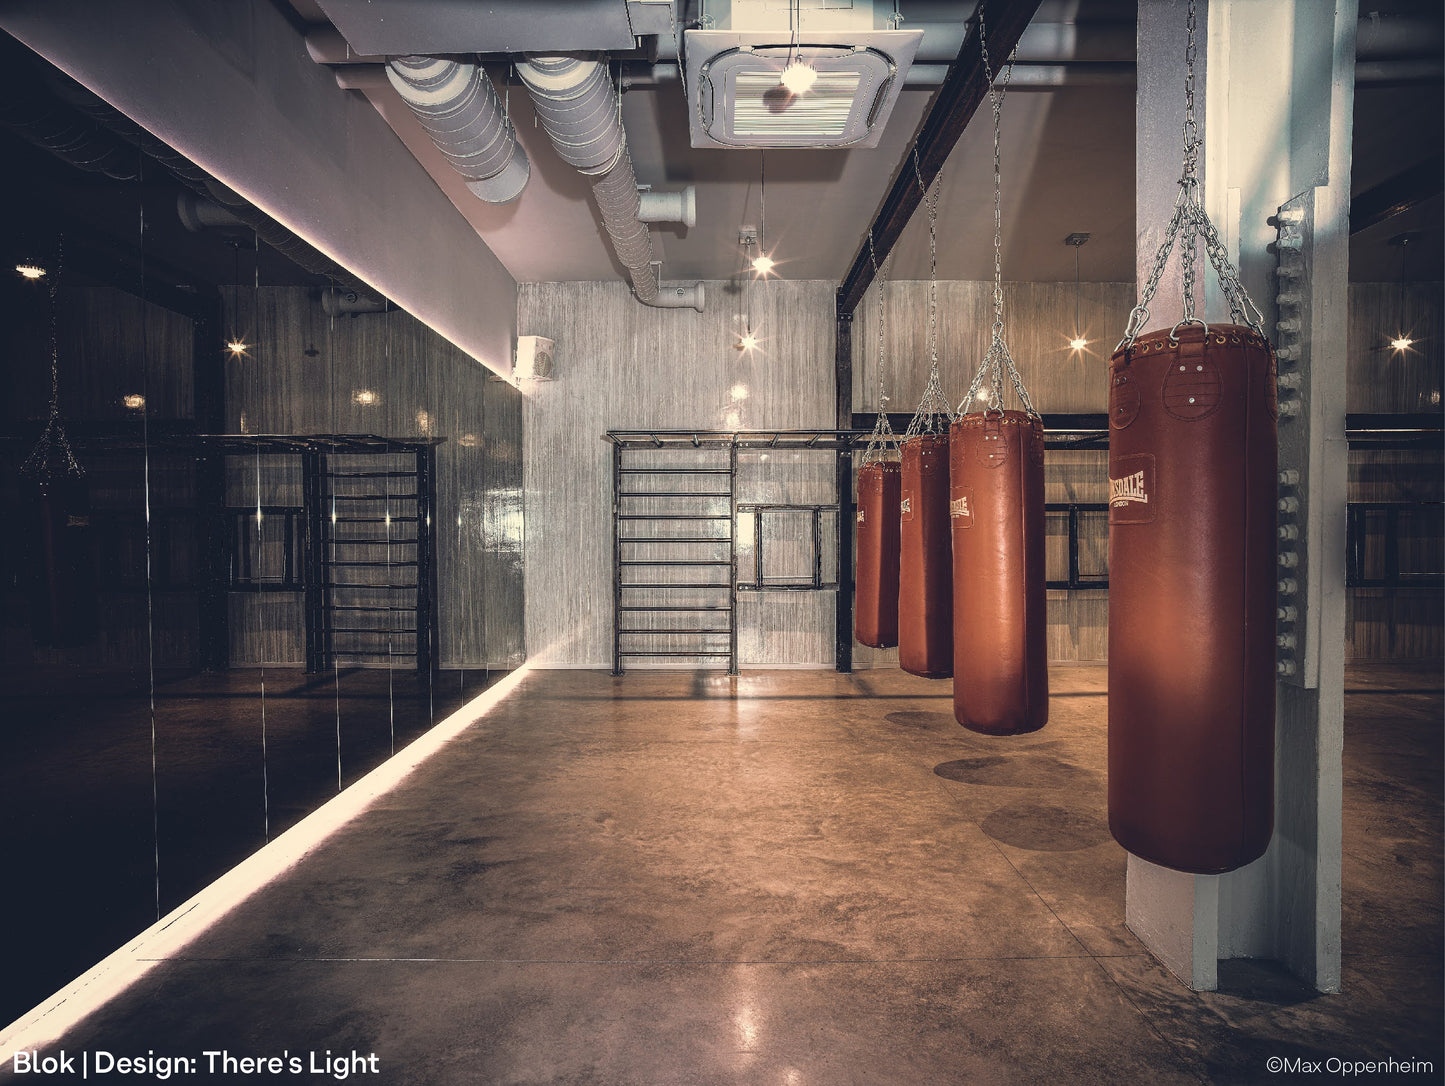
[[[1140,0],[1137,269],[1144,282],[1169,220],[1182,159],[1185,4]],[[1299,464],[1305,524],[1298,635],[1305,666],[1279,685],[1274,839],[1228,875],[1186,875],[1129,858],[1126,921],[1191,988],[1217,986],[1218,960],[1272,957],[1321,991],[1340,986],[1344,739],[1345,295],[1355,0],[1198,0],[1195,117],[1205,205],[1273,332],[1270,217],[1312,205],[1300,412],[1282,419]],[[1228,319],[1212,272],[1207,319]],[[1172,264],[1150,326],[1182,312]]]

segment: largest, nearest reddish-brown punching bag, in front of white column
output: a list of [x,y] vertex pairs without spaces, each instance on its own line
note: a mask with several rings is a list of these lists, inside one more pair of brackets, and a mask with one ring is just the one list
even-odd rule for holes
[[1274,355],[1237,325],[1110,360],[1108,825],[1220,874],[1274,816]]

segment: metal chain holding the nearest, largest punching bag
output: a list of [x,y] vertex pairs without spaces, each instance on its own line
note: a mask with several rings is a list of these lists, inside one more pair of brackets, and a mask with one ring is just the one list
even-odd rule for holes
[[1195,316],[1194,305],[1199,238],[1204,238],[1205,256],[1220,280],[1220,289],[1230,306],[1230,319],[1234,323],[1247,325],[1261,338],[1267,338],[1264,336],[1264,318],[1244,289],[1238,269],[1230,261],[1224,238],[1220,237],[1220,231],[1214,228],[1214,222],[1209,221],[1209,215],[1204,209],[1204,186],[1199,183],[1199,124],[1194,113],[1194,64],[1198,58],[1195,46],[1195,0],[1189,0],[1188,33],[1183,53],[1183,169],[1179,176],[1179,195],[1175,196],[1173,214],[1169,217],[1169,225],[1165,227],[1165,238],[1155,253],[1155,263],[1144,280],[1139,305],[1130,310],[1124,326],[1124,338],[1118,341],[1118,347],[1114,348],[1116,351],[1131,347],[1149,322],[1149,303],[1159,289],[1159,280],[1169,263],[1169,254],[1173,251],[1176,240],[1181,241],[1179,261],[1183,273],[1183,318],[1170,329],[1170,341],[1178,342],[1176,334],[1186,323],[1207,326],[1201,318]]

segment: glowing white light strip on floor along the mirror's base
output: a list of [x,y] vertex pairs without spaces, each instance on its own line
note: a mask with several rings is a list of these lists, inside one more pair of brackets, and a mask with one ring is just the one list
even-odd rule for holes
[[332,833],[386,796],[442,747],[477,724],[507,698],[527,673],[523,664],[483,690],[435,728],[387,758],[345,791],[272,839],[195,897],[178,905],[139,936],[75,978],[51,998],[0,1030],[0,1067],[14,1053],[43,1048],[59,1040],[82,1018],[124,992],[155,966],[179,956],[212,924],[263,887],[290,871]]

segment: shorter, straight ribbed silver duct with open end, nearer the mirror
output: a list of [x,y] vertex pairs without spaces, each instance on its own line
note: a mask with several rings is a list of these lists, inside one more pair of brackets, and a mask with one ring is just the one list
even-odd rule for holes
[[393,56],[386,77],[473,194],[488,204],[522,195],[532,166],[480,65]]

